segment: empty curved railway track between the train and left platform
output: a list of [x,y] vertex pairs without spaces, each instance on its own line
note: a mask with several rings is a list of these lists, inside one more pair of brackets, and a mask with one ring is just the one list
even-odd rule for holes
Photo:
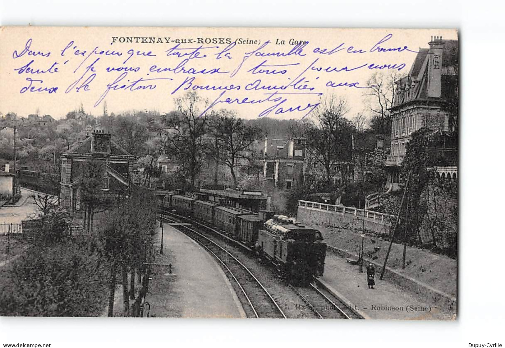
[[[183,218],[183,217],[180,217]],[[177,223],[176,220],[164,217],[167,222]],[[189,219],[185,219],[191,221]],[[225,248],[217,244],[204,234],[185,225],[177,228],[204,247],[222,266],[234,285],[242,304],[246,305],[244,311],[252,318],[286,318],[281,307],[273,296],[263,286],[260,280]]]

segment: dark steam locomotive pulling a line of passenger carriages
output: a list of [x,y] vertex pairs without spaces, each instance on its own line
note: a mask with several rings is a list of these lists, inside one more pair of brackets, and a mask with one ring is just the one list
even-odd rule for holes
[[178,214],[205,222],[276,266],[289,283],[307,285],[324,272],[326,243],[321,232],[294,218],[261,210],[227,207],[206,195],[169,194],[164,202]]

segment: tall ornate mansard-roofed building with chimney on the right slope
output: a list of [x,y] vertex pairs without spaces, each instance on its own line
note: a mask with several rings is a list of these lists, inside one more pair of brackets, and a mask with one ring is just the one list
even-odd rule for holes
[[[457,132],[459,42],[432,37],[429,48],[420,48],[409,74],[396,83],[394,103],[390,108],[391,150],[386,159],[388,186],[398,188],[400,166],[412,133],[422,127],[433,131],[433,168],[438,175],[458,176]],[[437,165],[438,164],[438,165]]]

